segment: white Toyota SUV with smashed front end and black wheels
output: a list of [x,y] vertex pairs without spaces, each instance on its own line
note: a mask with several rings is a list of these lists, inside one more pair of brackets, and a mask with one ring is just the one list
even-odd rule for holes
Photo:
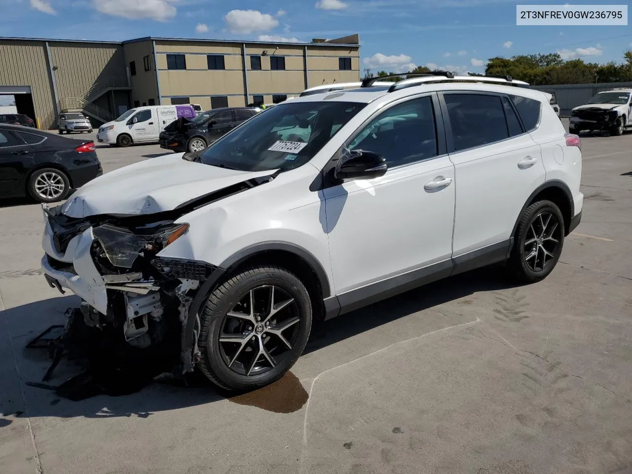
[[581,219],[580,140],[544,93],[477,80],[298,97],[106,173],[44,207],[46,278],[233,390],[281,377],[315,320],[498,262],[541,280]]

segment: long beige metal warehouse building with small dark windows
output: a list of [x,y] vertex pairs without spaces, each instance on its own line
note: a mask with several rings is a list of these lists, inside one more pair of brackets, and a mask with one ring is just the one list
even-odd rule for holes
[[82,110],[94,126],[126,109],[200,104],[202,109],[281,102],[308,87],[360,80],[360,40],[309,43],[146,37],[124,42],[0,37],[0,95],[55,128]]

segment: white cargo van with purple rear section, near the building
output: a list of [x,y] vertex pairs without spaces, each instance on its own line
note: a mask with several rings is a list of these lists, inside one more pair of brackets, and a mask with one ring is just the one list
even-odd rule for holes
[[147,106],[130,109],[118,119],[100,126],[97,142],[119,147],[133,143],[158,142],[164,128],[181,117],[192,119],[195,109],[184,106]]

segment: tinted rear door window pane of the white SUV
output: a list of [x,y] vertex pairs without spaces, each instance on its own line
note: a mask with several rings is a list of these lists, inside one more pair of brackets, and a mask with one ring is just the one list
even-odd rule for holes
[[483,94],[444,94],[452,129],[454,152],[509,138],[501,97]]

